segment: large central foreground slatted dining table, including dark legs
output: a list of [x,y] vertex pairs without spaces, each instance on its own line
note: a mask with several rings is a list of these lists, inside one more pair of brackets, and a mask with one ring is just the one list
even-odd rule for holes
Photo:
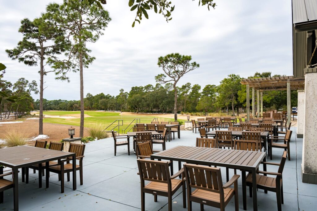
[[[243,209],[246,210],[246,171],[252,174],[253,210],[257,208],[256,170],[266,161],[265,152],[228,150],[217,148],[176,146],[151,155],[151,159],[172,160],[191,164],[211,165],[242,170]],[[178,166],[181,169],[181,165]],[[266,171],[266,164],[263,164]]]

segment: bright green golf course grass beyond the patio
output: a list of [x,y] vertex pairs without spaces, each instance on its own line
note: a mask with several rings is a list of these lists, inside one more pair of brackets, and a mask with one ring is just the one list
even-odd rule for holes
[[[62,116],[62,115],[71,115],[71,114],[79,114],[79,111],[46,111],[43,112],[43,114],[47,114],[47,115],[56,115],[56,116]],[[130,122],[132,122],[132,120],[134,118],[140,118],[140,122],[141,123],[151,123],[151,121],[153,120],[153,118],[155,116],[140,116],[140,115],[131,115],[131,116],[127,116],[127,115],[120,115],[120,113],[116,113],[116,112],[94,112],[94,111],[85,111],[85,114],[88,114],[91,117],[86,117],[85,118],[85,122],[84,122],[84,126],[85,127],[93,127],[94,125],[97,124],[101,124],[104,126],[104,128],[106,128],[108,125],[110,125],[113,121],[115,121],[116,119],[123,119],[123,126],[120,126],[120,133],[121,133],[121,129],[126,128]],[[159,118],[159,121],[173,121],[172,118]],[[75,126],[79,126],[80,125],[80,119],[62,119],[62,118],[44,118],[43,122],[45,123],[55,123],[55,124],[63,124],[63,125],[75,125]],[[136,121],[134,121],[136,122]],[[112,130],[113,127],[116,125],[117,123],[113,124],[112,126],[110,126],[109,128],[107,128],[107,130]],[[130,129],[134,124],[131,124],[130,127],[128,129]],[[115,131],[118,131],[118,128],[114,129]],[[127,130],[126,130],[127,131]]]

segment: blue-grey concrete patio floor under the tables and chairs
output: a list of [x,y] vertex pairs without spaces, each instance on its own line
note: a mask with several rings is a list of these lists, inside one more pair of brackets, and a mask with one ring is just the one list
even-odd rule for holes
[[[284,204],[282,210],[316,210],[317,185],[301,182],[302,139],[296,138],[296,127],[292,127],[290,142],[291,161],[286,160],[283,171]],[[198,133],[181,131],[181,138],[166,143],[166,149],[177,145],[195,146]],[[154,145],[154,150],[162,150],[161,145]],[[130,149],[132,147],[132,141]],[[132,150],[131,150],[132,151]],[[273,149],[272,162],[279,163],[282,149]],[[268,158],[268,161],[269,158]],[[178,163],[174,163],[174,173],[178,171]],[[262,170],[262,167],[260,166]],[[269,166],[268,171],[277,171],[277,167]],[[51,174],[49,188],[38,188],[37,174],[29,173],[29,184],[21,182],[19,178],[19,209],[20,210],[140,210],[140,177],[137,175],[136,156],[130,156],[126,146],[117,148],[114,156],[113,138],[102,139],[86,144],[84,157],[84,184],[79,184],[77,174],[77,190],[72,189],[72,182],[65,179],[65,193],[61,193],[60,182],[56,174]],[[225,169],[222,168],[223,181]],[[237,171],[240,174],[240,171]],[[21,176],[21,175],[20,175]],[[230,177],[233,170],[230,171]],[[6,177],[10,179],[10,176]],[[45,187],[45,177],[43,187]],[[241,177],[239,184],[239,208],[243,210]],[[146,210],[168,210],[167,198],[154,197],[146,194]],[[247,210],[253,210],[252,198],[247,188]],[[184,211],[182,192],[179,190],[173,196],[173,210]],[[219,210],[204,206],[205,210]],[[13,191],[4,191],[4,203],[1,210],[13,210]],[[197,203],[193,203],[193,210],[200,210]],[[234,210],[234,199],[227,205],[226,210]],[[264,194],[258,190],[258,210],[277,210],[276,195],[273,192]]]

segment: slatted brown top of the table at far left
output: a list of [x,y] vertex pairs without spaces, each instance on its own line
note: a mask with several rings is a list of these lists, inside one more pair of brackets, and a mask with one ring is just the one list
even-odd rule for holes
[[0,163],[8,167],[24,166],[74,156],[75,153],[49,150],[33,146],[16,146],[0,149]]

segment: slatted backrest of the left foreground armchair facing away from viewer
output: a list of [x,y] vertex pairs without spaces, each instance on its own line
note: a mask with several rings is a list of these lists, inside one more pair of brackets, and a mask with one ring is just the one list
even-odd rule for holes
[[167,183],[170,188],[171,179],[167,161],[138,159],[137,162],[142,188],[144,181]]

